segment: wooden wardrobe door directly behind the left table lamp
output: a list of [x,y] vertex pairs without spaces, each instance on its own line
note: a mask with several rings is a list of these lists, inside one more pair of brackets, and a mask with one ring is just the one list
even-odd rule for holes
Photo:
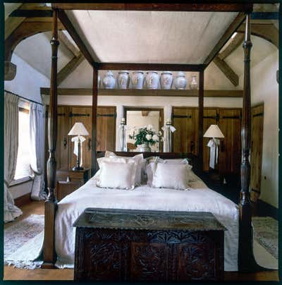
[[[87,129],[89,135],[85,135],[84,137],[86,140],[82,144],[82,166],[84,168],[90,168],[91,167],[91,132],[92,132],[92,107],[71,107],[71,128],[75,123],[83,123],[85,128]],[[69,130],[69,131],[70,131]],[[73,138],[73,136],[71,137]],[[69,168],[71,169],[73,166],[75,166],[76,163],[76,155],[73,153],[73,147],[74,142],[71,142],[71,159],[69,161],[71,162],[69,165]]]

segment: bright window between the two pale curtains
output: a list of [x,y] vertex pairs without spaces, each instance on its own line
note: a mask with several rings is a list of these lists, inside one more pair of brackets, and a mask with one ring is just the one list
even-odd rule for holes
[[32,174],[30,169],[30,116],[28,109],[20,108],[18,114],[18,157],[15,180],[22,180]]

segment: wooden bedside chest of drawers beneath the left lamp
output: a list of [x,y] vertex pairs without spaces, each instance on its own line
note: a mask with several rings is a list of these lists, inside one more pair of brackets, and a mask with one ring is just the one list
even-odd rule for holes
[[56,171],[56,197],[60,201],[66,195],[80,188],[90,178],[90,169],[73,171],[68,169],[58,169]]

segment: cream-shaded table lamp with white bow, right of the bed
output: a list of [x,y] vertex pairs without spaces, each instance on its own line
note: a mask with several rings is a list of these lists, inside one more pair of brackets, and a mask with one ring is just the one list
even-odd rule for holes
[[221,132],[219,126],[211,125],[204,133],[204,138],[211,138],[207,144],[210,148],[210,155],[209,155],[209,167],[212,169],[216,168],[217,158],[218,158],[218,147],[219,147],[219,138],[224,138],[223,133]]

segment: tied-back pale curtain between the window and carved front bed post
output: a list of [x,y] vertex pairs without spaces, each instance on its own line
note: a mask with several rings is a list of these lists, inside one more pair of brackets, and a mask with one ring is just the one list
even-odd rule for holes
[[44,106],[30,103],[30,167],[34,172],[32,200],[44,200]]

